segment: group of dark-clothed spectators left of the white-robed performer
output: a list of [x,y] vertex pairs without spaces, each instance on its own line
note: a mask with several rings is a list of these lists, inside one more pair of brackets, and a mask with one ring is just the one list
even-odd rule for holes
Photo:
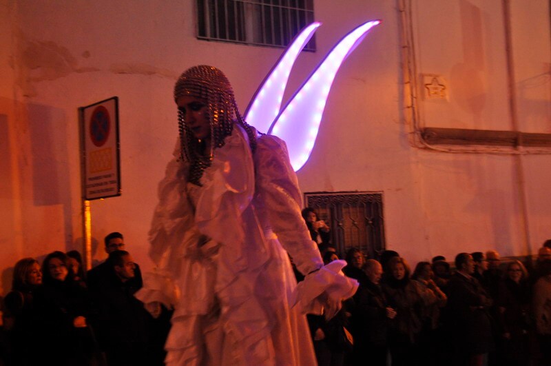
[[123,235],[105,237],[106,261],[85,273],[79,252],[23,258],[3,299],[0,365],[163,365],[170,314],[153,318],[134,297],[139,266]]

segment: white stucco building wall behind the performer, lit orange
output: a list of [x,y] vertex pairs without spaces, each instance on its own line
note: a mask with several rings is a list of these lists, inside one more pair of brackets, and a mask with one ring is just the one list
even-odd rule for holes
[[[398,3],[315,1],[315,18],[324,23],[318,51],[300,56],[287,96],[346,32],[369,19],[383,23],[337,73],[315,149],[298,172],[302,190],[384,192],[387,247],[413,264],[493,248],[534,252],[551,238],[550,155],[413,147],[403,114]],[[501,1],[415,1],[418,72],[443,74],[456,93],[444,104],[421,101],[424,125],[510,129],[503,34],[490,3]],[[512,1],[518,120],[523,132],[548,133],[548,1],[530,3]],[[94,259],[105,258],[103,236],[120,231],[147,270],[156,185],[177,132],[174,80],[191,65],[215,65],[245,110],[282,50],[197,40],[191,0],[2,0],[0,9],[0,293],[19,258],[81,249],[77,108],[110,96],[120,101],[123,194],[91,203]],[[472,19],[479,23],[469,28]],[[462,59],[469,63],[458,65]],[[469,72],[476,83],[464,79]]]

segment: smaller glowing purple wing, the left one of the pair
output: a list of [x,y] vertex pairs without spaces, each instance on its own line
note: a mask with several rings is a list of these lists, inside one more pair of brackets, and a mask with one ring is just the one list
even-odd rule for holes
[[245,121],[258,131],[267,132],[275,117],[280,113],[283,92],[289,80],[291,68],[293,68],[302,48],[320,25],[321,23],[318,22],[311,23],[295,37],[253,95],[251,103],[245,110]]

